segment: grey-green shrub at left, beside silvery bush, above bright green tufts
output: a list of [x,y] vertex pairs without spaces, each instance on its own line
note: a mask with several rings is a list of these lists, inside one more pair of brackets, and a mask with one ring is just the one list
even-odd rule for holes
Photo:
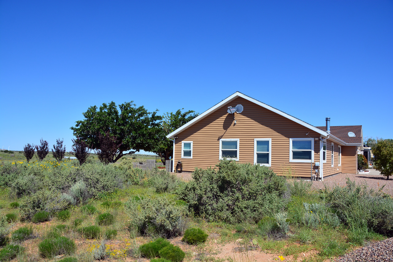
[[64,210],[67,205],[59,192],[41,190],[30,197],[26,197],[20,205],[21,220],[31,220],[39,211],[56,214]]

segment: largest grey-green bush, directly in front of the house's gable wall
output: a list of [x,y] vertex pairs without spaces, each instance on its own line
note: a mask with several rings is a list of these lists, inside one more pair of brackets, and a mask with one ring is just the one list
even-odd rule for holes
[[198,169],[181,199],[210,221],[258,221],[284,207],[285,180],[266,166],[222,160],[217,168]]

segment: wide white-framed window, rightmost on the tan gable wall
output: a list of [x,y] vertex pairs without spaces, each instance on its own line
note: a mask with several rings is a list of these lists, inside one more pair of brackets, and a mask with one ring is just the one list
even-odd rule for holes
[[289,139],[289,162],[312,163],[314,162],[313,138]]

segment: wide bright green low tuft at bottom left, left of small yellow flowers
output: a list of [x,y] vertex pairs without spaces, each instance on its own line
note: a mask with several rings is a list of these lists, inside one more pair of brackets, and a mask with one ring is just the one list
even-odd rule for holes
[[39,252],[42,256],[53,258],[57,255],[71,255],[75,252],[76,245],[73,240],[60,236],[58,238],[45,239],[38,245]]

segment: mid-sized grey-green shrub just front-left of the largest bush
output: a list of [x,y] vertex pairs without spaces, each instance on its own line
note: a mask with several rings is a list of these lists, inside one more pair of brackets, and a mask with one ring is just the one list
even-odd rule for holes
[[132,227],[142,235],[158,234],[164,238],[181,235],[186,227],[185,208],[174,206],[165,198],[130,199],[126,212]]

